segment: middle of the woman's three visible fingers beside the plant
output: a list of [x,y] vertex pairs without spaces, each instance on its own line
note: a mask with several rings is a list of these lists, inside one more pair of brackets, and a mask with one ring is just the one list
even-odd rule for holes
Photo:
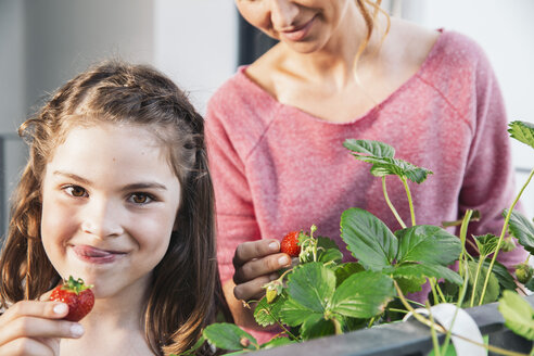
[[260,276],[271,275],[289,265],[291,265],[291,258],[284,253],[277,253],[267,257],[249,260],[236,268],[233,281],[236,284],[246,283]]

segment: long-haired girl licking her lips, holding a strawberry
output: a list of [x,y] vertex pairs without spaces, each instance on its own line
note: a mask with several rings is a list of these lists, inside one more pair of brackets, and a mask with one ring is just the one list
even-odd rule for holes
[[[169,79],[123,63],[78,75],[22,125],[30,154],[0,262],[1,355],[162,355],[196,342],[220,305],[203,127]],[[79,323],[47,301],[71,275],[94,285]]]

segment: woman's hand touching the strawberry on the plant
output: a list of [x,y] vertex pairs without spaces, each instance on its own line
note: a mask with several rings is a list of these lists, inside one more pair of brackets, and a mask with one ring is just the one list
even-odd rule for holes
[[277,271],[291,265],[291,258],[280,253],[277,240],[244,242],[236,249],[233,256],[233,294],[238,300],[259,300],[265,294],[262,288],[279,276]]

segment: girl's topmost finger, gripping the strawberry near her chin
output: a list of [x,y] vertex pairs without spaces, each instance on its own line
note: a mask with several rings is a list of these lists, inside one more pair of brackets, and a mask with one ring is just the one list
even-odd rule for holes
[[5,325],[21,316],[61,319],[68,313],[68,306],[60,302],[22,301],[12,305],[0,317],[0,325]]

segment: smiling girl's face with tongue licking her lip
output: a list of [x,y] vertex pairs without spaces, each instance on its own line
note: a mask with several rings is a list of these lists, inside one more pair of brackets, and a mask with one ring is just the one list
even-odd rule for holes
[[180,183],[144,127],[74,127],[47,164],[41,236],[62,278],[97,297],[143,293],[167,251]]

